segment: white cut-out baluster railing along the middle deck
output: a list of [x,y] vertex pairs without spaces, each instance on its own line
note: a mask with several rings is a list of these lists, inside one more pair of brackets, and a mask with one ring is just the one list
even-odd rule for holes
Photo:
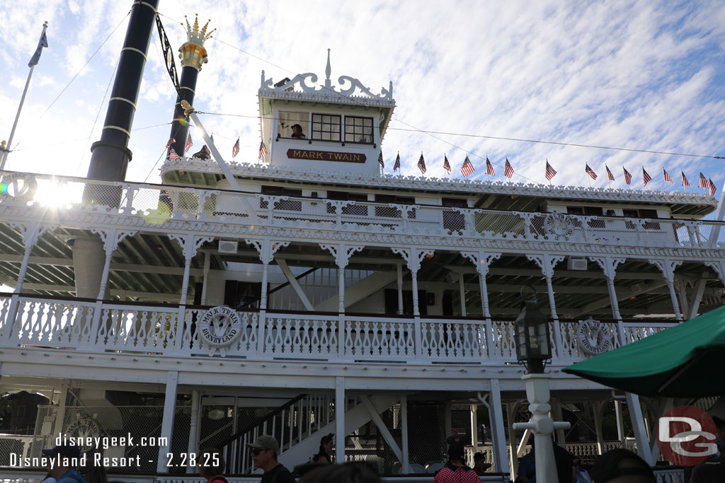
[[[1,345],[169,356],[220,354],[215,346],[206,343],[196,327],[206,308],[91,303],[21,295],[17,296],[17,311],[11,314],[10,299],[9,294],[0,296]],[[225,356],[468,364],[516,358],[512,320],[283,311],[239,311],[238,315],[238,335],[223,347]],[[550,322],[555,361],[566,363],[586,356],[579,348],[578,324],[579,321],[570,320]],[[672,324],[652,320],[603,322],[613,347],[622,345],[620,330],[626,344]]]

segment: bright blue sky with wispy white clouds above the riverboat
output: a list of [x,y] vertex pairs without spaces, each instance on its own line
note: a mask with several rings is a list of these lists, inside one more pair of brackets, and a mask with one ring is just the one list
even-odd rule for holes
[[[123,45],[131,1],[0,2],[0,140],[9,137],[43,21],[49,48],[33,72],[7,169],[85,176],[100,138],[107,90]],[[209,62],[194,107],[222,154],[240,138],[236,161],[256,162],[260,72],[275,82],[299,72],[359,78],[373,92],[394,85],[397,107],[382,143],[386,172],[399,151],[403,175],[423,151],[426,177],[452,177],[469,154],[468,179],[622,188],[622,167],[642,188],[682,190],[680,169],[718,186],[725,159],[476,138],[725,156],[725,3],[713,1],[182,1],[161,0],[174,49],[186,41],[184,15],[211,20]],[[97,53],[94,55],[94,53]],[[90,60],[89,60],[90,59]],[[177,59],[177,69],[181,70]],[[74,76],[75,77],[74,79]],[[127,180],[158,182],[175,93],[154,29],[129,148]],[[408,131],[413,127],[413,131]],[[405,130],[401,130],[405,129]],[[428,135],[431,130],[455,135]],[[191,130],[195,152],[201,136]],[[496,177],[485,175],[486,156]],[[585,163],[599,175],[591,180]],[[616,180],[608,182],[605,164]],[[674,178],[663,184],[662,169]]]

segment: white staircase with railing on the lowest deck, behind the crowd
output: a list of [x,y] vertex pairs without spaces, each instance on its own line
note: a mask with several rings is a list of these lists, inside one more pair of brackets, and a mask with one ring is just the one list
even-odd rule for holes
[[[393,395],[371,396],[370,401],[378,413],[390,408],[397,398]],[[307,462],[317,453],[320,438],[334,433],[334,395],[299,395],[279,406],[267,416],[242,428],[220,443],[227,461],[228,474],[250,474],[254,471],[251,452],[247,443],[254,442],[260,434],[272,434],[280,445],[279,461],[289,469]],[[345,434],[354,432],[372,417],[357,398],[347,401]],[[343,439],[335,438],[342,442]]]

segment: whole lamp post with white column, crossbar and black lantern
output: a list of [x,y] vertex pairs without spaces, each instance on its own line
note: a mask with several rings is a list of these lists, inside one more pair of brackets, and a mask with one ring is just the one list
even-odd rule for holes
[[571,424],[552,421],[549,415],[550,376],[544,374],[544,361],[551,358],[549,321],[539,310],[537,301],[524,298],[523,288],[521,298],[521,313],[515,322],[516,358],[526,364],[527,374],[521,379],[526,382],[531,419],[528,423],[514,423],[513,429],[530,429],[534,434],[537,482],[556,483],[558,476],[551,435],[555,429],[569,429]]

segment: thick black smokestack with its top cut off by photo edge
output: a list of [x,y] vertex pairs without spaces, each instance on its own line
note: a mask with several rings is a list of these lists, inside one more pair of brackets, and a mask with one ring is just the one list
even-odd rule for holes
[[[94,180],[125,180],[131,160],[128,139],[158,6],[159,0],[144,0],[134,1],[131,7],[101,140],[91,146],[88,177]],[[104,203],[108,201],[104,199]]]

